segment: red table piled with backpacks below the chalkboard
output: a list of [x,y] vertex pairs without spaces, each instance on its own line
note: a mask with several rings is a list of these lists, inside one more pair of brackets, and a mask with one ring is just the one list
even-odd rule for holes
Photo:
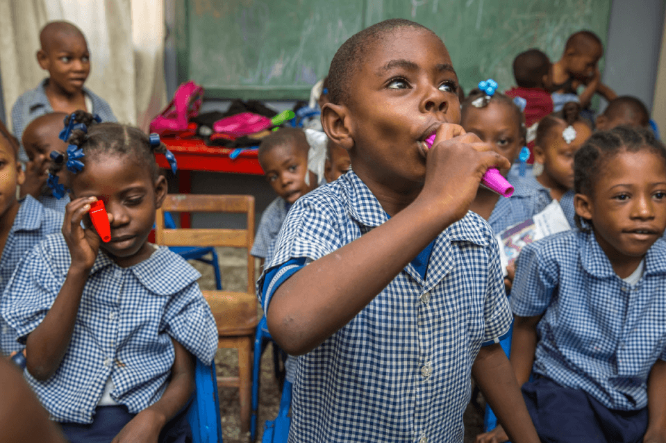
[[[235,148],[211,147],[203,140],[181,140],[164,137],[167,149],[174,153],[178,162],[178,192],[190,193],[190,171],[227,172],[232,174],[252,174],[263,176],[256,150],[242,151],[235,159],[229,154]],[[171,170],[169,162],[162,154],[156,154],[157,164]],[[181,226],[190,228],[190,215],[181,214]]]

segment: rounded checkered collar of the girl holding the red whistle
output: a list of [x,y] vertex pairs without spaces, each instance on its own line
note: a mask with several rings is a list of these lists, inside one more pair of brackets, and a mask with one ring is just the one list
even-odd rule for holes
[[[92,265],[90,275],[92,276],[92,274],[108,267],[124,269],[116,265],[104,251],[100,250],[94,265]],[[174,269],[174,267],[179,268],[178,274],[167,271],[167,269]],[[169,251],[165,246],[160,246],[146,260],[125,269],[131,270],[147,290],[162,296],[179,292],[201,277],[201,274],[191,267],[188,262],[177,256],[176,253]]]

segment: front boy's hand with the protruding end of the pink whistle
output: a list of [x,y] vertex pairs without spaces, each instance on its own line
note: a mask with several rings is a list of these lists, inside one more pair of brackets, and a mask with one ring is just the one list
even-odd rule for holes
[[436,136],[427,137],[424,144],[427,159],[422,194],[440,201],[454,221],[465,217],[479,184],[507,197],[513,194],[513,187],[498,170],[508,169],[509,161],[475,134],[465,133],[462,126],[441,124]]

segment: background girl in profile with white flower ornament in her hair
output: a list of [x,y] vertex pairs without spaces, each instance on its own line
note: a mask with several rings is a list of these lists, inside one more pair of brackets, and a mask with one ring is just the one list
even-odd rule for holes
[[[579,108],[576,108],[579,109]],[[526,174],[519,181],[557,200],[574,228],[574,154],[592,134],[592,129],[578,117],[567,114],[569,121],[548,115],[539,122],[534,140],[534,161],[540,165],[539,176]]]

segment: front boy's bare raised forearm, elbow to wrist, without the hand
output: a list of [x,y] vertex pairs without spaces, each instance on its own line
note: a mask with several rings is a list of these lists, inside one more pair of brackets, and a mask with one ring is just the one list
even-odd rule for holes
[[303,267],[272,298],[267,312],[272,337],[292,355],[314,349],[454,221],[417,199],[385,224]]

